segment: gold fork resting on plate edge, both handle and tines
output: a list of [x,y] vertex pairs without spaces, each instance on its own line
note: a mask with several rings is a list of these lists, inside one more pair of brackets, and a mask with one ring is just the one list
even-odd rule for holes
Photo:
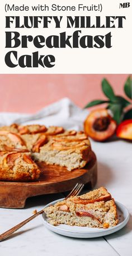
[[[84,186],[84,184],[77,183],[76,186],[74,186],[73,190],[67,195],[67,197],[65,199],[69,198],[70,196],[79,195],[79,193],[81,193],[81,191],[83,189],[83,186]],[[44,213],[44,209],[35,213],[31,217],[27,218],[25,221],[22,221],[21,223],[17,224],[16,226],[10,228],[10,230],[7,230],[6,232],[4,232],[3,234],[0,235],[0,241],[6,239],[8,236],[11,236],[20,227],[24,226],[26,223],[33,220],[34,218],[36,218],[37,216],[39,216],[42,213]]]

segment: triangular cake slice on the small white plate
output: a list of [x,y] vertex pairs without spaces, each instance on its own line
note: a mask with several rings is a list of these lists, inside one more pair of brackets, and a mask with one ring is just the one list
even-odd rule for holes
[[44,212],[53,225],[109,228],[118,223],[115,201],[105,188],[70,197],[45,208]]

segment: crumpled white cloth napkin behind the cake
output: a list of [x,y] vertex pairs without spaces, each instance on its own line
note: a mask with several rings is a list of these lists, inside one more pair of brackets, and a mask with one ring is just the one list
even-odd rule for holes
[[17,124],[44,124],[46,126],[63,126],[65,129],[83,129],[87,109],[77,107],[70,99],[63,98],[58,102],[42,108],[33,115],[25,113],[0,113],[0,126]]

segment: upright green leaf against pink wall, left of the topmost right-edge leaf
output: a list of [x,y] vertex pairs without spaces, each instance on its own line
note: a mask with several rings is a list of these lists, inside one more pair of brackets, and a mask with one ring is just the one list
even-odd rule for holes
[[106,79],[102,80],[102,90],[106,97],[109,98],[111,101],[116,100],[114,90]]

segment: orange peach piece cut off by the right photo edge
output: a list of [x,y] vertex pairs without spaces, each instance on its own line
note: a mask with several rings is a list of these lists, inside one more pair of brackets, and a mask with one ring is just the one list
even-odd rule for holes
[[121,122],[117,127],[116,135],[122,139],[132,140],[132,119]]

